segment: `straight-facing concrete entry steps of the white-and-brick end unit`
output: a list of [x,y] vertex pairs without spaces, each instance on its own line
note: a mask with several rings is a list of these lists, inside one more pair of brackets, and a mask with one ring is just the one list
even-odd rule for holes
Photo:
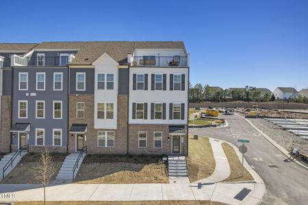
[[185,156],[168,156],[168,172],[169,176],[188,176]]

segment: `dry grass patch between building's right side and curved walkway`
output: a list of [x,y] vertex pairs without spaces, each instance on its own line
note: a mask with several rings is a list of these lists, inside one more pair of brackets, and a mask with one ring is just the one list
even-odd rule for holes
[[193,139],[190,135],[188,143],[188,177],[190,182],[211,176],[216,163],[209,138],[198,137],[198,139]]

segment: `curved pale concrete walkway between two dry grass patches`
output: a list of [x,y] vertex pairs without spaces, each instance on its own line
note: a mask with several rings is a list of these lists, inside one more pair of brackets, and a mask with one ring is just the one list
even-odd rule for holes
[[225,180],[230,176],[230,165],[227,159],[226,154],[224,154],[224,150],[222,149],[221,143],[219,139],[213,139],[209,137],[209,143],[211,143],[211,149],[213,150],[214,159],[215,159],[215,170],[211,176],[204,178],[202,180],[198,180],[196,182],[201,183],[216,183]]

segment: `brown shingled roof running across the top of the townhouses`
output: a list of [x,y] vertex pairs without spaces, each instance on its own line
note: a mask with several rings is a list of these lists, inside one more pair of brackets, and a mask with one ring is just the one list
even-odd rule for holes
[[103,53],[119,64],[127,64],[127,54],[135,49],[183,49],[181,41],[89,41],[89,42],[42,42],[40,44],[0,44],[0,51],[31,51],[33,49],[66,49],[77,51],[73,65],[90,65]]

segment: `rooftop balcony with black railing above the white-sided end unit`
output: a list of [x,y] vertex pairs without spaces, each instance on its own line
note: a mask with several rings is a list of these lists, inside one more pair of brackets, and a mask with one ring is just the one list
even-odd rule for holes
[[131,66],[186,67],[188,56],[133,56]]

